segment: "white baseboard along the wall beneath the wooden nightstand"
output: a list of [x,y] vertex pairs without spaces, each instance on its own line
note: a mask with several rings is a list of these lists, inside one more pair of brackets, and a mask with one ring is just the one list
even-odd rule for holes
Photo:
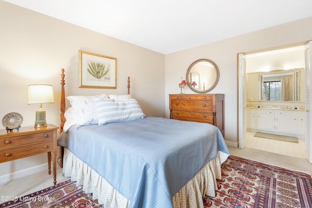
[[34,166],[31,168],[27,168],[27,169],[19,170],[16,172],[11,172],[11,173],[8,173],[5,175],[1,175],[0,176],[0,184],[9,182],[10,180],[14,180],[17,178],[28,176],[28,175],[31,175],[31,174],[34,174],[34,173],[37,173],[40,171],[45,171],[45,170],[48,172],[48,163],[44,163],[44,164]]

